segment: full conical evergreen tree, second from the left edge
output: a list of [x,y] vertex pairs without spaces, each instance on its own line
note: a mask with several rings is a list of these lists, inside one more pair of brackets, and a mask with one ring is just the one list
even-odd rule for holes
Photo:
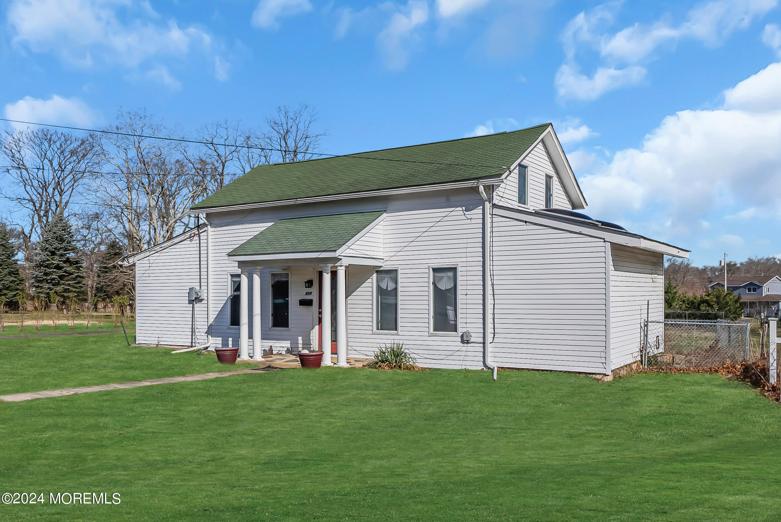
[[30,264],[33,294],[46,299],[56,295],[65,301],[80,297],[84,262],[78,253],[70,224],[62,213],[57,213],[44,228]]

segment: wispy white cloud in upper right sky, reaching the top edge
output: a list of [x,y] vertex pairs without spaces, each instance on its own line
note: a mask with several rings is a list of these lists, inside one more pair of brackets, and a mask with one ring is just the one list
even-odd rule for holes
[[[745,29],[777,3],[777,0],[714,0],[691,9],[678,26],[663,18],[649,26],[635,23],[615,34],[608,34],[605,29],[615,20],[619,2],[584,11],[572,18],[562,33],[565,62],[556,73],[558,97],[594,100],[605,92],[640,83],[646,73],[641,64],[663,45],[672,46],[684,38],[709,46],[721,45],[729,34]],[[772,28],[766,27],[765,34],[766,43],[767,39],[773,41]],[[591,77],[580,73],[576,62],[576,53],[583,47],[597,52],[603,62]]]

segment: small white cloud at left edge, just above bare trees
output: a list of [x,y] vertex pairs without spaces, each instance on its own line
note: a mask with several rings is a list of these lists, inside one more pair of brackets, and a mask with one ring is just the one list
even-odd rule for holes
[[[43,100],[25,96],[18,102],[5,104],[5,117],[9,120],[92,127],[98,122],[98,114],[78,98],[62,98],[52,95]],[[11,123],[15,129],[28,127],[24,123]]]

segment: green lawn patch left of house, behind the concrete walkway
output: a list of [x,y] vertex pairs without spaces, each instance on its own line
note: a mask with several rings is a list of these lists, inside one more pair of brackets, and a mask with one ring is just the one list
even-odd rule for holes
[[[133,342],[132,333],[129,336]],[[122,333],[0,338],[0,395],[246,367],[251,366],[225,366],[213,354],[198,357],[195,352],[172,354],[170,348],[129,347]]]

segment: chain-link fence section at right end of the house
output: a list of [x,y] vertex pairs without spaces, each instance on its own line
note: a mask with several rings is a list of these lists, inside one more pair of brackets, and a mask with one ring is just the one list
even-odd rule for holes
[[707,368],[751,358],[749,324],[727,320],[646,320],[640,325],[645,367]]

